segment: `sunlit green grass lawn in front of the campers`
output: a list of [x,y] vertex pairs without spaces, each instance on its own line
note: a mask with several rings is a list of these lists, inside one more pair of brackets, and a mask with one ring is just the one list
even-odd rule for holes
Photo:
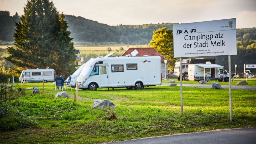
[[[255,86],[256,80],[251,80]],[[228,89],[183,87],[181,115],[179,86],[154,86],[142,90],[79,90],[76,105],[73,105],[74,89],[66,90],[70,99],[55,99],[59,91],[54,90],[51,82],[45,83],[44,95],[42,83],[24,83],[23,86],[36,86],[41,94],[33,95],[32,91],[25,91],[26,96],[8,104],[37,124],[16,130],[0,130],[1,143],[104,143],[256,126],[255,90],[232,90],[231,122]],[[16,87],[20,87],[20,83]],[[93,109],[91,106],[96,99],[109,99],[117,107]]]

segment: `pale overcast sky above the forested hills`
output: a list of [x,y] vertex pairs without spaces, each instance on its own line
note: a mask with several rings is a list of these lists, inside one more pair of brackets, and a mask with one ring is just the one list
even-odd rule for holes
[[[50,0],[51,1],[51,0]],[[192,23],[236,18],[237,28],[256,27],[256,0],[52,0],[59,12],[110,26]],[[24,14],[27,0],[0,0],[0,10]]]

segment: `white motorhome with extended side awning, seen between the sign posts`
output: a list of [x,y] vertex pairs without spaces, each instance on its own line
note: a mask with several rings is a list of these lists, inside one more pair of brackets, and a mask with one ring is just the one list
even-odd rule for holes
[[223,66],[219,64],[188,64],[188,80],[201,81],[204,77],[210,80],[219,80],[224,77]]

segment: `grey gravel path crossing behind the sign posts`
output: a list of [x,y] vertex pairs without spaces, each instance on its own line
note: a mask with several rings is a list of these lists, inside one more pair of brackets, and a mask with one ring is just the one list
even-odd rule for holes
[[[170,83],[162,83],[161,85],[166,86]],[[181,86],[180,83],[177,84],[177,86]],[[211,84],[185,84],[182,83],[182,86],[189,86],[189,87],[199,87],[199,88],[212,88]],[[229,89],[228,85],[221,85],[222,88]],[[256,90],[256,86],[242,86],[242,85],[231,85],[231,89],[241,89],[241,90]]]

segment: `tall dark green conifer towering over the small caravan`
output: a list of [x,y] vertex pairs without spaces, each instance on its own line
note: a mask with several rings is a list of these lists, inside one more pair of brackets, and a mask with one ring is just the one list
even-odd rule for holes
[[53,68],[68,76],[75,69],[75,48],[64,15],[49,0],[29,0],[15,23],[14,45],[6,59],[17,67]]

